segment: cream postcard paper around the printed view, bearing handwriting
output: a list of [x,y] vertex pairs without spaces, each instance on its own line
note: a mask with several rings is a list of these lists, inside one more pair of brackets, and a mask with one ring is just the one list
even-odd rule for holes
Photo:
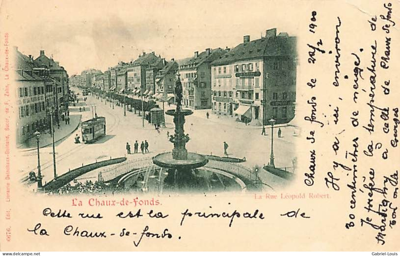
[[[86,251],[86,250],[106,250],[106,251],[129,251],[129,250],[366,250],[366,251],[393,251],[399,250],[400,231],[398,224],[392,223],[389,227],[389,220],[396,220],[392,217],[392,211],[388,210],[388,216],[385,220],[386,228],[384,233],[385,244],[381,245],[376,240],[378,230],[364,223],[361,226],[361,219],[372,217],[374,223],[381,224],[379,215],[372,215],[363,209],[367,205],[368,189],[364,193],[356,194],[356,209],[350,209],[351,191],[347,187],[350,184],[352,171],[346,171],[340,167],[336,170],[332,167],[333,161],[349,165],[353,163],[350,158],[345,159],[346,150],[353,151],[352,140],[358,137],[358,180],[357,187],[362,188],[364,183],[368,184],[369,168],[375,170],[376,187],[382,188],[384,176],[389,177],[399,169],[399,146],[394,148],[390,145],[390,140],[394,138],[394,112],[393,108],[399,107],[399,62],[400,57],[399,33],[398,33],[398,12],[400,5],[396,1],[391,2],[391,19],[396,23],[394,26],[386,20],[382,20],[380,15],[387,15],[388,9],[384,8],[390,1],[2,1],[0,6],[1,15],[1,34],[2,45],[4,43],[4,34],[9,35],[9,44],[19,45],[29,44],[37,40],[34,37],[34,31],[42,27],[58,27],[60,20],[53,18],[61,15],[68,16],[70,20],[79,19],[84,22],[84,16],[118,16],[124,19],[129,18],[126,15],[132,12],[135,19],[148,17],[151,15],[161,15],[168,18],[165,24],[182,24],[182,26],[192,29],[207,27],[208,33],[215,33],[215,37],[224,37],[227,33],[237,33],[238,36],[246,34],[248,28],[256,26],[260,31],[269,28],[278,28],[278,31],[289,32],[290,35],[298,37],[298,77],[297,77],[297,105],[296,118],[301,127],[301,138],[296,145],[299,169],[296,173],[296,179],[285,188],[277,188],[268,193],[278,195],[277,199],[266,199],[265,192],[259,192],[262,199],[255,199],[254,193],[220,193],[218,195],[116,195],[113,199],[122,200],[123,198],[141,197],[151,199],[152,197],[161,202],[157,207],[142,207],[142,214],[145,215],[150,209],[160,211],[169,216],[165,219],[149,219],[146,215],[140,219],[117,219],[116,214],[123,211],[127,213],[132,211],[136,213],[138,207],[118,206],[118,207],[72,207],[72,199],[78,198],[84,203],[90,198],[88,196],[48,196],[34,194],[27,191],[19,183],[15,173],[18,173],[19,162],[24,161],[18,150],[14,148],[15,135],[12,132],[15,129],[14,118],[18,115],[18,109],[15,106],[16,90],[12,89],[10,84],[10,97],[4,96],[2,92],[2,119],[7,118],[4,110],[5,100],[10,101],[10,131],[4,130],[5,121],[2,124],[2,148],[6,143],[6,134],[10,134],[10,179],[5,178],[6,153],[2,150],[2,177],[1,177],[1,233],[0,249],[2,251]],[[117,8],[115,6],[118,6]],[[316,12],[316,21],[312,22],[312,12]],[[68,15],[65,15],[67,13]],[[167,13],[167,14],[166,14]],[[369,21],[377,16],[376,31],[371,31]],[[188,20],[188,17],[191,17]],[[335,26],[340,17],[340,86],[332,85],[335,76]],[[170,19],[170,20],[169,20]],[[66,20],[66,24],[70,22]],[[232,25],[233,22],[234,24]],[[188,26],[187,22],[190,22]],[[309,32],[311,23],[316,24],[315,33]],[[163,26],[165,26],[165,24]],[[184,24],[186,24],[184,26]],[[390,24],[390,33],[385,33],[382,26]],[[232,25],[232,26],[230,26]],[[157,25],[156,25],[157,26]],[[233,28],[232,28],[233,27]],[[176,28],[176,27],[175,27]],[[175,29],[174,28],[174,29]],[[71,28],[78,29],[78,28]],[[202,30],[199,30],[200,33]],[[236,31],[236,32],[235,32]],[[56,33],[56,32],[55,32]],[[68,28],[62,31],[68,33]],[[196,39],[182,36],[183,32],[177,32],[179,41],[174,41],[175,47],[189,47]],[[29,35],[29,38],[24,38]],[[57,36],[56,34],[54,35]],[[384,56],[386,48],[385,37],[391,37],[389,69],[379,67],[380,59]],[[253,37],[254,38],[254,37]],[[311,48],[307,45],[317,46],[319,39],[322,39],[323,45],[320,46],[326,53],[317,52],[314,56],[315,64],[308,63]],[[49,38],[48,40],[52,40]],[[377,66],[376,66],[376,106],[390,108],[388,125],[390,132],[383,132],[384,120],[380,117],[381,111],[375,108],[375,131],[369,134],[362,126],[368,124],[370,118],[370,107],[368,93],[370,91],[369,77],[370,72],[367,67],[371,63],[371,47],[377,42]],[[216,40],[218,42],[218,40]],[[241,41],[238,41],[240,43]],[[153,44],[162,44],[154,41]],[[224,47],[224,45],[213,45]],[[9,47],[10,47],[9,46]],[[80,45],[76,45],[80,47]],[[4,46],[1,51],[1,65],[4,67]],[[195,48],[195,47],[193,47]],[[364,51],[360,52],[360,48]],[[39,51],[39,49],[37,49]],[[68,49],[60,50],[62,54],[68,54]],[[166,49],[168,51],[168,49]],[[191,50],[195,51],[195,49]],[[333,53],[329,55],[328,51]],[[360,89],[365,89],[364,93],[359,91],[359,103],[354,104],[353,98],[353,80],[354,80],[354,56],[351,53],[357,53],[361,59],[360,67],[364,69],[362,75],[364,80],[360,81]],[[102,52],[99,55],[104,54]],[[86,56],[76,61],[85,61]],[[12,72],[12,61],[10,61],[10,74]],[[5,71],[3,70],[3,73]],[[344,79],[348,75],[348,79]],[[2,89],[8,81],[4,81],[2,76]],[[310,79],[317,79],[316,87],[307,85]],[[384,95],[381,85],[384,81],[390,80],[390,94]],[[318,102],[317,118],[324,122],[324,127],[319,124],[304,120],[305,116],[311,115],[311,105],[307,103],[312,96],[316,97]],[[338,98],[343,100],[339,100]],[[14,102],[14,103],[12,103]],[[331,106],[329,106],[329,104]],[[339,122],[333,124],[334,106],[338,106]],[[359,111],[358,118],[360,125],[356,128],[352,126],[351,115],[353,111]],[[190,118],[190,117],[188,117]],[[4,119],[5,120],[5,119]],[[327,123],[330,123],[329,125]],[[310,143],[306,137],[309,132],[315,130],[314,144]],[[343,132],[342,132],[343,131]],[[341,133],[342,132],[342,133]],[[3,135],[4,134],[4,135]],[[249,136],[252,136],[250,134]],[[256,136],[256,135],[254,135]],[[338,155],[332,148],[335,136],[340,140],[340,149]],[[212,140],[212,136],[207,138]],[[368,157],[363,151],[367,149],[368,144],[373,141],[382,143],[382,148],[374,150],[374,156]],[[207,143],[204,140],[204,143]],[[243,138],[243,143],[246,143]],[[266,145],[266,147],[268,147]],[[388,149],[388,158],[382,159],[382,153]],[[314,185],[307,186],[304,183],[304,173],[309,173],[310,150],[316,151],[316,170]],[[249,152],[251,154],[251,152]],[[276,153],[278,154],[278,153]],[[268,155],[266,154],[266,162]],[[261,164],[261,163],[260,163]],[[340,186],[339,191],[329,188],[326,185],[325,178],[329,177],[328,172],[332,172]],[[366,181],[362,182],[362,176]],[[6,202],[6,183],[10,183],[10,202]],[[328,184],[329,185],[329,184]],[[398,185],[389,185],[387,199],[392,202],[392,207],[398,207],[398,199],[393,198],[394,189]],[[305,199],[280,199],[281,193],[299,194],[305,193]],[[310,199],[309,193],[328,194],[328,199]],[[383,197],[378,192],[374,192],[374,209],[378,209],[379,203]],[[97,197],[97,196],[93,196]],[[104,199],[104,197],[98,197]],[[43,216],[42,211],[50,207],[53,211],[58,209],[67,210],[73,218],[51,218]],[[182,214],[186,209],[189,211],[211,210],[215,213],[222,211],[232,212],[235,209],[240,212],[254,213],[256,209],[261,211],[265,219],[234,219],[232,226],[229,227],[229,219],[201,219],[195,217],[186,217],[184,224],[180,226]],[[289,218],[281,214],[289,211],[299,211],[305,213],[310,218],[297,216]],[[396,208],[397,209],[397,208]],[[10,219],[6,219],[6,211],[10,210]],[[389,212],[390,211],[390,212]],[[103,219],[80,219],[79,213],[97,214],[101,213]],[[397,212],[398,213],[398,212]],[[354,227],[346,229],[346,223],[351,220],[349,214],[354,214]],[[49,236],[40,236],[28,232],[37,223],[46,228]],[[66,226],[79,226],[81,229],[92,231],[114,232],[117,235],[107,238],[82,238],[65,236],[63,230]],[[137,242],[140,236],[120,237],[118,234],[122,228],[137,232],[142,232],[148,225],[150,231],[162,232],[168,228],[173,235],[168,238],[143,238],[140,245],[136,247],[133,241]],[[10,228],[10,241],[6,239],[6,228]],[[180,239],[178,238],[180,237]]]

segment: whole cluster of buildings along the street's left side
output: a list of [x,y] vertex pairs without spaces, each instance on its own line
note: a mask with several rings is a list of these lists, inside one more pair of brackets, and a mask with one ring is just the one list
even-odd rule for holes
[[32,138],[34,132],[50,126],[50,114],[54,123],[60,114],[68,110],[68,73],[58,61],[47,57],[43,50],[34,59],[18,48],[15,53],[15,80],[18,102],[17,138],[22,143]]

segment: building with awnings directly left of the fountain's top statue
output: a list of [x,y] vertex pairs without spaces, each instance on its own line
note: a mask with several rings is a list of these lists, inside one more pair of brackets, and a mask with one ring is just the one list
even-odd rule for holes
[[166,63],[163,69],[156,75],[156,94],[154,97],[159,100],[172,101],[175,95],[176,72],[178,71],[178,63],[171,59]]

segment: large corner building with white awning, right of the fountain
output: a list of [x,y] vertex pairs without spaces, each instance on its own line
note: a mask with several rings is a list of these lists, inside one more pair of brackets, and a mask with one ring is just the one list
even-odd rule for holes
[[287,33],[243,43],[212,63],[212,112],[254,125],[287,123],[296,101],[296,37]]

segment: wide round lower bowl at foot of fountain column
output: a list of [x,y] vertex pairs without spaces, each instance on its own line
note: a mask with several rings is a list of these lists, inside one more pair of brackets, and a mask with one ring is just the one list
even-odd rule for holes
[[153,163],[164,168],[188,169],[190,171],[190,169],[206,165],[208,160],[204,156],[192,152],[188,152],[186,160],[177,160],[172,158],[172,152],[166,152],[153,157]]

